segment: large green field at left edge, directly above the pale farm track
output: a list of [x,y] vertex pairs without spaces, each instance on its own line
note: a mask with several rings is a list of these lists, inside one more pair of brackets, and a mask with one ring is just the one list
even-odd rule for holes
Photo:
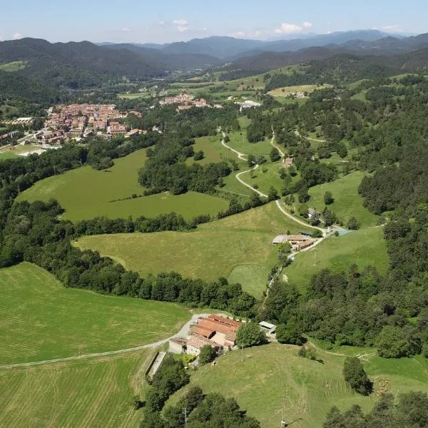
[[29,263],[1,269],[0,292],[0,365],[136,347],[189,318],[175,304],[64,288]]

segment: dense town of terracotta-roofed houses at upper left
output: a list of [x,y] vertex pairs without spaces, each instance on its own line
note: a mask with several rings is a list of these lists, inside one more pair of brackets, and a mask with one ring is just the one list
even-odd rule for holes
[[36,138],[50,145],[56,145],[65,138],[81,138],[96,133],[106,139],[113,136],[138,136],[140,131],[127,131],[126,126],[118,119],[126,118],[137,111],[123,113],[116,110],[114,104],[71,104],[59,106],[54,112],[49,111],[49,118],[44,123],[44,129],[36,134]]

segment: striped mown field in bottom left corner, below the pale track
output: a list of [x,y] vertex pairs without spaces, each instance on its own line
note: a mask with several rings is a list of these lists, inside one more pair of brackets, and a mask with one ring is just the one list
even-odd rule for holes
[[131,407],[153,350],[0,370],[2,427],[138,427]]

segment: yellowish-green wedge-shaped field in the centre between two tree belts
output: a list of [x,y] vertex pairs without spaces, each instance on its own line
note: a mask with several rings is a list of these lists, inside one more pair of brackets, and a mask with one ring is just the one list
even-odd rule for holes
[[[76,245],[98,250],[143,274],[168,270],[185,277],[216,280],[232,273],[235,282],[259,297],[276,262],[272,239],[287,230],[297,233],[299,228],[270,203],[205,223],[192,232],[86,236]],[[252,275],[248,274],[249,265]],[[236,271],[237,267],[240,270]]]

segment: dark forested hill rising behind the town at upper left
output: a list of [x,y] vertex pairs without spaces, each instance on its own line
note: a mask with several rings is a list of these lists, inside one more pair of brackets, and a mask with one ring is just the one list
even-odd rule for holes
[[0,42],[0,63],[25,61],[26,66],[16,71],[17,74],[69,88],[96,86],[123,76],[162,77],[168,71],[188,67],[189,63],[195,67],[210,65],[208,56],[177,58],[154,49],[131,51],[128,47],[118,46],[113,50],[88,41],[51,44],[27,38]]

